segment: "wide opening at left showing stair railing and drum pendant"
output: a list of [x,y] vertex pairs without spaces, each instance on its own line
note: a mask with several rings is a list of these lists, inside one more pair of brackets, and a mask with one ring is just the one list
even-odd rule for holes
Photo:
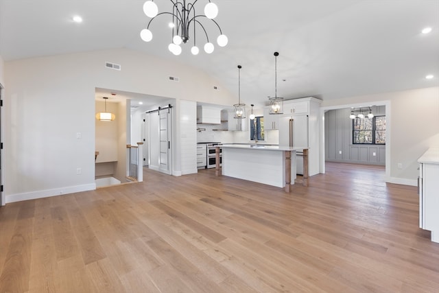
[[[102,186],[130,182],[132,176],[128,172],[132,173],[134,165],[140,168],[139,172],[142,167],[158,166],[157,171],[171,174],[173,114],[170,110],[147,112],[175,104],[175,99],[96,88],[96,112],[103,107],[99,104],[102,97],[109,97],[107,108],[115,113],[116,119],[95,124],[95,179],[103,180]],[[132,156],[136,149],[136,155]],[[133,163],[132,158],[136,158],[136,162]],[[156,161],[160,163],[154,164]]]

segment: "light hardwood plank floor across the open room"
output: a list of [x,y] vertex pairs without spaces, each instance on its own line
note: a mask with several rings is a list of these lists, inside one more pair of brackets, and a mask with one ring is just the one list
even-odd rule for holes
[[0,292],[439,292],[416,187],[328,163],[282,189],[215,169],[0,208]]

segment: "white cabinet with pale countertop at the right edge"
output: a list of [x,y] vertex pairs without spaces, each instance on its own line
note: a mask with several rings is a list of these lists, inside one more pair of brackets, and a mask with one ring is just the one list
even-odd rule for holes
[[419,163],[419,227],[431,231],[439,243],[439,148],[431,148]]

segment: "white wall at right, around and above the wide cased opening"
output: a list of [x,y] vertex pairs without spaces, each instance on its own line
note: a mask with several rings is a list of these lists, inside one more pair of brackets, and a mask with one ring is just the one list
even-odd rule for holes
[[[416,185],[418,158],[428,148],[439,148],[439,87],[333,99],[322,108],[388,101],[390,150],[386,153],[388,182]],[[342,108],[342,107],[340,107]],[[403,164],[398,169],[398,163]]]

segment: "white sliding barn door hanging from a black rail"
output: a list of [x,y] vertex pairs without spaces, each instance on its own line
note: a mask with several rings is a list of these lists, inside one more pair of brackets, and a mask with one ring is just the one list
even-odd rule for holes
[[171,108],[160,110],[160,157],[159,171],[171,174]]

